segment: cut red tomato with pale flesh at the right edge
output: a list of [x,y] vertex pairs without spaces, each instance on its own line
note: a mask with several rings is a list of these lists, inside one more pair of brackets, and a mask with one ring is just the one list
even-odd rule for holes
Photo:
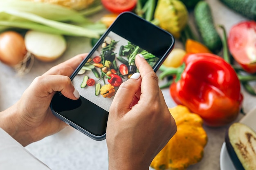
[[256,73],[256,22],[243,21],[231,27],[229,51],[248,73]]

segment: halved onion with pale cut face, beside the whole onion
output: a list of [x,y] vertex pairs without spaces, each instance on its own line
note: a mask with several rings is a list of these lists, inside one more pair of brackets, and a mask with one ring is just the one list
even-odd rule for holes
[[43,62],[52,62],[58,59],[67,48],[63,35],[32,30],[25,34],[25,46],[27,51]]

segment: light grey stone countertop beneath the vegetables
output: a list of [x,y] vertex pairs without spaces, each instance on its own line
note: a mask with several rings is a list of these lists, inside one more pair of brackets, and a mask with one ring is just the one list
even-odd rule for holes
[[[215,23],[225,25],[227,31],[229,31],[232,25],[245,20],[241,15],[229,10],[218,0],[207,0],[207,2],[211,5]],[[93,19],[98,19],[99,17],[100,15],[97,15]],[[193,22],[192,18],[190,22]],[[12,68],[0,63],[0,110],[4,110],[17,102],[35,77],[42,75],[52,66],[76,54],[86,53],[91,49],[88,38],[68,37],[67,43],[67,51],[60,59],[51,63],[35,60],[33,68],[27,75],[17,76]],[[175,47],[179,46],[181,44],[176,42]],[[168,88],[162,91],[168,107],[175,106],[169,95]],[[247,113],[255,107],[256,97],[249,95],[243,89],[242,93],[244,95],[243,109]],[[240,114],[237,121],[241,117],[243,117],[242,114]],[[220,150],[227,126],[221,128],[209,128],[205,126],[204,129],[207,131],[209,137],[208,144],[205,147],[204,157],[199,163],[190,166],[188,170],[220,170]],[[108,169],[106,140],[94,141],[71,127],[67,127],[55,135],[45,137],[41,141],[30,144],[26,148],[52,170]]]

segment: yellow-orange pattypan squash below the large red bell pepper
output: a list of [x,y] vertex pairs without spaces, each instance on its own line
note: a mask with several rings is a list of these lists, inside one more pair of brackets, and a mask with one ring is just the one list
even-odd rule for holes
[[153,159],[151,167],[156,170],[185,170],[198,163],[207,144],[202,118],[186,106],[169,108],[177,124],[177,132]]

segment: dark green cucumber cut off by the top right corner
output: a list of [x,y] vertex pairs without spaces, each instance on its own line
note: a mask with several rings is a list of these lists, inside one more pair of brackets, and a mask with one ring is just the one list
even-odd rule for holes
[[244,17],[256,21],[256,0],[220,0],[227,7]]

